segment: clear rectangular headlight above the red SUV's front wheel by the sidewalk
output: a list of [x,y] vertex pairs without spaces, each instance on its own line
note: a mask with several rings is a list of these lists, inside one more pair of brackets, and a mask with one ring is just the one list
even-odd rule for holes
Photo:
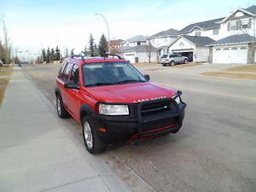
[[99,113],[107,115],[127,115],[129,114],[129,109],[127,105],[108,105],[100,104]]

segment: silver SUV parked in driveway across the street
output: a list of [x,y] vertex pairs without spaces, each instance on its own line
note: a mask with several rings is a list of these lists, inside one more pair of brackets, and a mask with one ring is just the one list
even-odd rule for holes
[[174,66],[177,63],[188,63],[188,57],[180,54],[167,54],[160,57],[163,66]]

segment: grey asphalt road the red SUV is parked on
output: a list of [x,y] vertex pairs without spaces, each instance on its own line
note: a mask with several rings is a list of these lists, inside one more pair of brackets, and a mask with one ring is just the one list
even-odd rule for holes
[[[24,68],[53,104],[59,68]],[[139,68],[150,74],[151,82],[183,90],[188,108],[177,134],[136,147],[114,146],[102,154],[131,189],[140,191],[138,185],[143,185],[145,191],[256,191],[256,81],[195,73],[208,71],[207,66]],[[80,133],[73,119],[67,123]]]

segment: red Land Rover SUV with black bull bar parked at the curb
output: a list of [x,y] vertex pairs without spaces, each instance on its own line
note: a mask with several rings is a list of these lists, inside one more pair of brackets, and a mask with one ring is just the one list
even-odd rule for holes
[[56,79],[56,109],[60,118],[73,116],[83,129],[91,154],[108,143],[176,133],[183,125],[186,104],[182,92],[149,82],[149,76],[118,58],[68,58]]

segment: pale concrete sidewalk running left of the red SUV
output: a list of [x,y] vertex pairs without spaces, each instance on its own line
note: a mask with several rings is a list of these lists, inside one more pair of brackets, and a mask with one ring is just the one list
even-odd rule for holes
[[129,191],[78,137],[15,67],[0,108],[0,191]]

